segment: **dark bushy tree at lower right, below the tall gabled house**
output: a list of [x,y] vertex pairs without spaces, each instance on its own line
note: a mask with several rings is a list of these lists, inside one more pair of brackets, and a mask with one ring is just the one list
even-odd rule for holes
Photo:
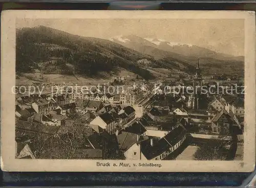
[[194,157],[197,160],[226,160],[228,149],[227,145],[230,141],[225,139],[226,137],[212,137],[207,144],[201,146]]

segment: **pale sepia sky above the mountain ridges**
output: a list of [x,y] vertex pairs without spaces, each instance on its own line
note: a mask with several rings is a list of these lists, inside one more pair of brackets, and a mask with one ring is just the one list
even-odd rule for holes
[[158,38],[244,56],[243,19],[17,19],[17,28],[49,26],[74,35]]

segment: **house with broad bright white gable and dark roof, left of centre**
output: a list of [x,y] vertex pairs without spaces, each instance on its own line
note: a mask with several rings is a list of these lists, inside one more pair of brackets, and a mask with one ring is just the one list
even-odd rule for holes
[[117,125],[114,117],[109,113],[104,113],[97,116],[94,120],[90,122],[90,124],[100,126],[102,129],[105,129],[110,135],[115,133]]

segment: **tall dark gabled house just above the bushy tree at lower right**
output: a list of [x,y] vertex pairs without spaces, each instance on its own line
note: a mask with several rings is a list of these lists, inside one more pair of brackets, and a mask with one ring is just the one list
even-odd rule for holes
[[217,113],[211,120],[212,132],[220,135],[228,135],[232,132],[232,120],[225,109]]

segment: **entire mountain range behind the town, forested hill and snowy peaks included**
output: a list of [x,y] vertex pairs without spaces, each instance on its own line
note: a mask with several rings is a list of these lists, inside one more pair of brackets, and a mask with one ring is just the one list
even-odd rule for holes
[[93,77],[102,71],[116,72],[122,68],[153,79],[156,77],[153,72],[158,69],[193,74],[199,59],[202,73],[237,74],[244,68],[243,58],[200,46],[134,35],[105,40],[72,35],[46,26],[16,31],[16,72],[23,73],[37,69],[45,74]]

